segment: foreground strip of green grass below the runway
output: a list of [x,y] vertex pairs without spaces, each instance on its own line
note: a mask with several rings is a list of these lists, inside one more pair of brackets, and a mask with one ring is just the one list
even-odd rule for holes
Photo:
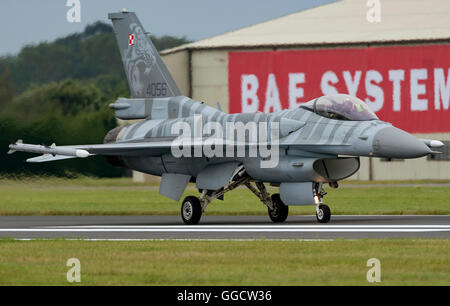
[[449,254],[450,240],[0,240],[0,285],[68,285],[69,258],[81,285],[369,285],[373,257],[378,284],[450,285]]

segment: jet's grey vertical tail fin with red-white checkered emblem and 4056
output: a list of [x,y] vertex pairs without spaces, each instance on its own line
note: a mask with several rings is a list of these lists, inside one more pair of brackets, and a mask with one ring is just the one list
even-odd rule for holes
[[110,13],[133,98],[181,96],[150,37],[133,12]]

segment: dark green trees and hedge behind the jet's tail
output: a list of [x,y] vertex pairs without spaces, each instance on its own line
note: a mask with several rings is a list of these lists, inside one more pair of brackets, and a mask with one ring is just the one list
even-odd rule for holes
[[[158,50],[189,42],[172,36],[152,37]],[[129,97],[112,27],[103,22],[81,33],[28,45],[13,56],[0,58],[0,173],[45,175],[126,175],[103,157],[26,164],[31,154],[6,155],[8,145],[102,143],[117,126],[108,104]]]

